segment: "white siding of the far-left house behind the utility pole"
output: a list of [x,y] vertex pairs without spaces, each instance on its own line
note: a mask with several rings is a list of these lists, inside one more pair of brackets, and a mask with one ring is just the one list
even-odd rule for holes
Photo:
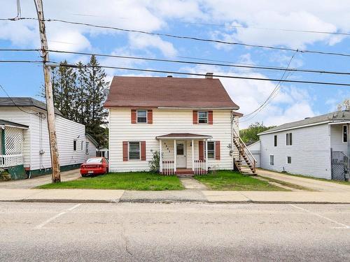
[[[15,107],[1,107],[1,119],[29,126],[29,129],[24,130],[23,133],[23,155],[26,168],[30,170],[51,168],[46,112],[29,107],[23,110],[25,112]],[[42,117],[39,117],[39,112],[42,113]],[[58,115],[55,116],[55,120],[60,166],[83,163],[85,151],[74,152],[73,140],[77,140],[77,146],[80,141],[85,141],[85,126]]]

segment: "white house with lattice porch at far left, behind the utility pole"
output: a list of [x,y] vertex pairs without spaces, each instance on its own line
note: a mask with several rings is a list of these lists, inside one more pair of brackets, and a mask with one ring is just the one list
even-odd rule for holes
[[[61,170],[78,168],[96,147],[87,151],[85,126],[65,119],[59,110],[55,110],[55,124]],[[45,103],[27,97],[0,97],[0,137],[0,168],[8,168],[12,177],[51,172]]]

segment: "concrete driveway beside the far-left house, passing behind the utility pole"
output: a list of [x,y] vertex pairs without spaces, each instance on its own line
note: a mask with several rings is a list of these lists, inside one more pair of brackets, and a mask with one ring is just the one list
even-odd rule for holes
[[[80,177],[79,169],[73,169],[61,173],[62,182],[76,180],[78,177]],[[41,186],[42,184],[48,184],[50,182],[51,174],[40,175],[38,177],[29,178],[26,180],[0,182],[0,189],[32,189],[34,187]]]

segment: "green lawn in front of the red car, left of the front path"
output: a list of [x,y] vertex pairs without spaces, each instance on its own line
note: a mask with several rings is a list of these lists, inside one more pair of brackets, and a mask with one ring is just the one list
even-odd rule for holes
[[125,189],[125,190],[181,190],[176,176],[146,172],[109,173],[97,177],[80,177],[69,182],[44,184],[39,189]]

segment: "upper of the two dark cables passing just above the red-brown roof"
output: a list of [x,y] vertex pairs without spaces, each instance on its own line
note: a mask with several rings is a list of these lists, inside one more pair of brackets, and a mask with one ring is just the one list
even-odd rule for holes
[[[39,51],[39,49],[0,49],[0,51]],[[207,66],[224,66],[224,67],[237,67],[237,68],[251,68],[251,69],[263,69],[263,70],[274,70],[274,71],[295,71],[302,73],[325,73],[325,74],[335,74],[335,75],[350,75],[350,72],[339,72],[339,71],[324,71],[324,70],[314,70],[314,69],[302,69],[302,68],[283,68],[283,67],[275,67],[275,66],[255,66],[249,64],[221,64],[221,63],[207,63],[207,62],[196,62],[196,61],[183,61],[183,60],[174,60],[174,59],[159,59],[159,58],[151,58],[151,57],[132,57],[132,56],[123,56],[118,54],[99,54],[99,53],[90,53],[90,52],[73,52],[73,51],[64,51],[64,50],[47,50],[48,52],[56,52],[56,53],[64,53],[64,54],[81,54],[81,55],[94,55],[97,57],[114,57],[121,59],[136,59],[136,60],[145,60],[145,61],[162,61],[162,62],[170,62],[170,63],[178,63],[178,64],[196,64],[196,65],[207,65]],[[191,57],[192,59],[195,59]],[[206,59],[204,59],[206,60]],[[208,59],[211,61],[210,59]],[[215,61],[215,60],[214,60]]]

